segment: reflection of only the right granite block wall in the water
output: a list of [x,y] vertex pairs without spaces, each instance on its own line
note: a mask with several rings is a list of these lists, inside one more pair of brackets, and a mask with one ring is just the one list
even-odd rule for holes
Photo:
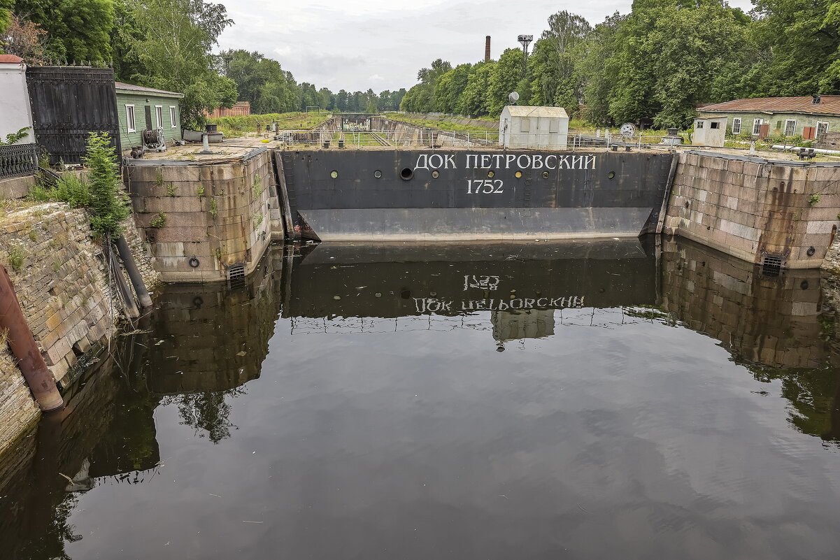
[[688,327],[770,367],[836,359],[820,338],[819,270],[768,277],[753,264],[693,243],[665,241],[663,253],[662,305]]

